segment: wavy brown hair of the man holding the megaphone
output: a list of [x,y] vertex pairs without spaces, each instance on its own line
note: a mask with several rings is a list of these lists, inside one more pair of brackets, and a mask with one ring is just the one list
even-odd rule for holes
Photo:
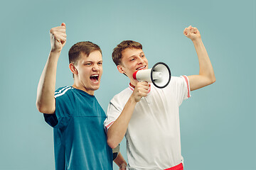
[[133,41],[133,40],[124,40],[117,47],[114,48],[112,52],[112,60],[114,64],[119,65],[121,64],[122,59],[122,51],[127,48],[136,48],[136,49],[142,49],[142,45],[139,42]]

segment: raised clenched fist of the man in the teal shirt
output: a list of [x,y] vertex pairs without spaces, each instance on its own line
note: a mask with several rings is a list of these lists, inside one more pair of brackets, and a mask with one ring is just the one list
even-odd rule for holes
[[61,51],[67,40],[65,33],[65,23],[61,23],[61,26],[50,29],[50,46],[51,51]]

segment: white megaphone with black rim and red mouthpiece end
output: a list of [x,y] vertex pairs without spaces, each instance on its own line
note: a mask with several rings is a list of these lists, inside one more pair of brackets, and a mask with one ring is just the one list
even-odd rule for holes
[[138,81],[151,82],[161,89],[171,81],[171,70],[164,62],[158,62],[151,69],[142,69],[134,72],[132,77]]

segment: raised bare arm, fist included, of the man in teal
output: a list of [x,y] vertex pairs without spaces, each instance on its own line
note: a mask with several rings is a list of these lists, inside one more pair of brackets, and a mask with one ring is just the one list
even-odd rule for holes
[[55,80],[56,69],[60,52],[66,42],[65,23],[50,29],[50,55],[38,83],[36,107],[41,113],[52,114],[55,112]]

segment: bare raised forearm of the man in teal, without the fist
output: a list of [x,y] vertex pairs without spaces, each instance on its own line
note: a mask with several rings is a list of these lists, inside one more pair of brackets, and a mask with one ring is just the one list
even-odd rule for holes
[[55,111],[54,91],[59,56],[60,52],[50,52],[38,83],[36,106],[41,113],[54,113]]

